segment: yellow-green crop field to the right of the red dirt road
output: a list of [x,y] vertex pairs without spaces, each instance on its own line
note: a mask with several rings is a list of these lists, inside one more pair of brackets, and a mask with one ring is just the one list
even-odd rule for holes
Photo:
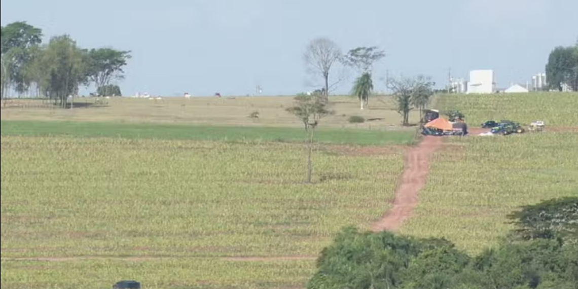
[[445,139],[403,234],[446,236],[477,253],[512,228],[506,215],[520,206],[578,196],[578,94],[448,95],[439,103],[460,109],[472,126],[509,118],[568,129]]

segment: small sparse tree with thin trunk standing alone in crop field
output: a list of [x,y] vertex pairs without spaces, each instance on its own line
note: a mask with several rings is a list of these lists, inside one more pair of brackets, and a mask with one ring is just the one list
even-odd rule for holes
[[313,171],[311,154],[315,129],[321,118],[334,113],[327,106],[328,102],[324,95],[300,94],[295,97],[295,106],[287,109],[287,112],[297,116],[305,124],[305,131],[309,133],[309,141],[307,142],[307,183],[311,183],[311,173]]

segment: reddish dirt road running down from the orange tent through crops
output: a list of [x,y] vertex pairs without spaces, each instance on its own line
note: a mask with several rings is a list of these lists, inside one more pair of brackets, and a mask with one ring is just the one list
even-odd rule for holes
[[418,194],[427,180],[429,160],[441,146],[442,138],[439,136],[425,136],[420,144],[407,150],[405,169],[395,191],[394,207],[373,224],[374,232],[396,231],[403,221],[412,216]]

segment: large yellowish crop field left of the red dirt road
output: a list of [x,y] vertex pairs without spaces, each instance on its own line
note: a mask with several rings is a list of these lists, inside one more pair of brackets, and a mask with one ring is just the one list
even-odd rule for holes
[[321,147],[312,186],[302,144],[2,135],[2,288],[303,286],[390,206],[403,147],[361,149]]

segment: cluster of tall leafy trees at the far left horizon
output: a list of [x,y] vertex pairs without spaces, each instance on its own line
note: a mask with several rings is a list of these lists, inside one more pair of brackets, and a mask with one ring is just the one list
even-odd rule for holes
[[113,81],[124,79],[131,51],[83,49],[70,35],[42,43],[42,29],[25,21],[1,27],[1,93],[49,98],[65,108],[80,86],[94,84],[102,95],[120,94]]

